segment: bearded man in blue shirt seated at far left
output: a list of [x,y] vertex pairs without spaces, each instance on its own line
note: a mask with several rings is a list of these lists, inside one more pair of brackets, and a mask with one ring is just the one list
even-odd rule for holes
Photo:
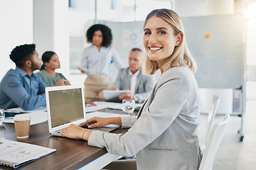
[[20,107],[31,111],[46,106],[46,84],[33,71],[41,68],[36,45],[25,44],[11,51],[16,69],[9,69],[0,83],[0,108]]

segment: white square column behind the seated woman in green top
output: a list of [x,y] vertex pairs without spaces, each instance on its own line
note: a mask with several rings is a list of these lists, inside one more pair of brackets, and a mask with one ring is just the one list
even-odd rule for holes
[[40,56],[54,51],[60,58],[60,69],[69,78],[68,0],[33,0],[33,42]]

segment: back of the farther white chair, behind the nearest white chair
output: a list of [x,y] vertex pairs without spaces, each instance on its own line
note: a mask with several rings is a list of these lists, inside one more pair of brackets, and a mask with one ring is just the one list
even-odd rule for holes
[[201,145],[201,150],[203,152],[204,152],[204,149],[206,148],[206,143],[207,143],[208,137],[210,135],[210,129],[212,127],[213,119],[215,117],[219,103],[220,103],[220,98],[218,96],[213,96],[213,104],[208,113],[207,122],[206,122],[206,140],[204,143],[205,145]]

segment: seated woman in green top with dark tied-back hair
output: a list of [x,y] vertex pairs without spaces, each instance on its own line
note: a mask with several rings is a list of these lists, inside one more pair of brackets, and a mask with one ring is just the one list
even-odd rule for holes
[[37,74],[43,79],[47,86],[64,86],[70,85],[63,74],[55,72],[60,69],[60,60],[55,52],[47,51],[42,55],[43,65],[41,71]]

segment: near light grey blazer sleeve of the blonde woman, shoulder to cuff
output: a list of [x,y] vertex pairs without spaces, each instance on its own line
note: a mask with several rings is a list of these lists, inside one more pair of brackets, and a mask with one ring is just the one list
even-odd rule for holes
[[105,147],[111,154],[130,157],[163,134],[186,106],[190,84],[188,79],[173,77],[170,74],[162,79],[164,81],[158,83],[154,89],[155,94],[151,94],[149,98],[150,105],[143,108],[141,115],[128,132],[112,134],[93,131],[88,144]]

